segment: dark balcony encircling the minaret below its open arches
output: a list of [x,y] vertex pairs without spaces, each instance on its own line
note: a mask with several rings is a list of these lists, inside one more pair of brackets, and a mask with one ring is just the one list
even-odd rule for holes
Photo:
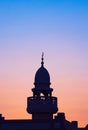
[[57,112],[57,98],[56,97],[28,97],[27,111],[32,112]]

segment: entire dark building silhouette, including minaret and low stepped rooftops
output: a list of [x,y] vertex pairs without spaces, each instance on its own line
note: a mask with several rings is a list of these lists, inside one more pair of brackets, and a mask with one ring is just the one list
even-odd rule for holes
[[41,67],[35,74],[33,96],[27,98],[27,112],[32,114],[32,119],[5,120],[0,114],[0,130],[88,130],[88,125],[78,128],[77,121],[69,122],[64,113],[58,113],[57,98],[52,96],[50,75],[43,60],[42,55]]

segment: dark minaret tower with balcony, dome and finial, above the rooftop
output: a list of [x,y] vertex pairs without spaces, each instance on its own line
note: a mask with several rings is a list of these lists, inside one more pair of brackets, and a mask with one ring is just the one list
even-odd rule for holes
[[32,114],[32,119],[52,120],[53,114],[58,111],[57,98],[52,96],[50,88],[50,75],[44,67],[44,53],[42,53],[41,67],[35,74],[33,96],[27,98],[27,112]]

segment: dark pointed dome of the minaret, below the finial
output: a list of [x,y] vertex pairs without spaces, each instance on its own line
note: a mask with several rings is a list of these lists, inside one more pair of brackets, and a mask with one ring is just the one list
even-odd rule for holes
[[35,74],[35,87],[49,87],[50,75],[44,66],[41,66]]

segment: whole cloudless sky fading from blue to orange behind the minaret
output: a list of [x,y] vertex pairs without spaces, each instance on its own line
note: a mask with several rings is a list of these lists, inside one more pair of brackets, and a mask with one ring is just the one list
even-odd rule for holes
[[41,53],[60,112],[88,123],[88,0],[0,0],[0,113],[31,118]]

